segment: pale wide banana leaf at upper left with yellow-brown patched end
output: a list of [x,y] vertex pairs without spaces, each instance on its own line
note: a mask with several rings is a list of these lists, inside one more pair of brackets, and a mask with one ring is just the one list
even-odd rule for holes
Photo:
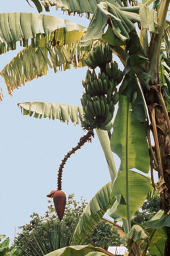
[[67,44],[70,38],[73,43],[79,40],[84,31],[86,28],[83,26],[54,16],[34,13],[1,13],[0,54],[5,53],[6,50],[16,49],[18,41],[21,46],[28,47],[28,39],[32,39],[32,44],[36,46],[41,34],[45,35],[46,42],[51,40],[54,45]]

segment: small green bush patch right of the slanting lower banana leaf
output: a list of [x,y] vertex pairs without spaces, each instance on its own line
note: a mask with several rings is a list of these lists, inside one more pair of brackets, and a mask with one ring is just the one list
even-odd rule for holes
[[105,250],[107,250],[109,246],[120,246],[120,236],[117,233],[117,229],[112,228],[113,226],[109,222],[99,222],[85,244],[102,247]]

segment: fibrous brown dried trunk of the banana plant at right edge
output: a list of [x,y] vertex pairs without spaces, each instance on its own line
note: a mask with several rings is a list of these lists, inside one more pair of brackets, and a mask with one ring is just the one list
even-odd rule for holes
[[[159,181],[157,187],[162,201],[162,209],[165,214],[170,213],[170,123],[165,107],[160,85],[152,85],[150,95],[147,97],[148,110],[151,118],[151,129],[154,135],[156,160],[154,159]],[[149,136],[148,136],[148,139]],[[150,142],[149,142],[150,144]]]

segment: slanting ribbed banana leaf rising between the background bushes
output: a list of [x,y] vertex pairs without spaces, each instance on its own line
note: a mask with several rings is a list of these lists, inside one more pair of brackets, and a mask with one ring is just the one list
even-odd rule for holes
[[86,241],[88,234],[90,234],[100,222],[101,217],[103,217],[114,201],[114,199],[111,198],[111,190],[112,182],[101,188],[92,198],[80,217],[71,244],[78,245]]

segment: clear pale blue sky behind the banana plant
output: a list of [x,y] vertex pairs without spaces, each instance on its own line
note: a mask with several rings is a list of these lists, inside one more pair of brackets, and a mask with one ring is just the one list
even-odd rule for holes
[[[6,0],[1,12],[34,12],[25,0]],[[54,8],[48,15],[62,18]],[[69,17],[77,23],[87,26],[86,18]],[[18,47],[18,51],[19,51]],[[16,55],[11,51],[1,55],[0,70]],[[0,172],[0,234],[14,239],[14,227],[29,222],[32,212],[40,215],[48,205],[46,195],[56,189],[58,166],[63,156],[77,144],[84,135],[80,126],[72,123],[60,123],[49,119],[35,119],[22,116],[17,104],[25,101],[46,101],[80,105],[83,86],[82,79],[87,68],[71,69],[56,73],[52,70],[47,76],[27,82],[15,90],[11,98],[7,94],[4,82],[1,116],[1,172]],[[118,161],[116,162],[118,166]],[[81,196],[87,201],[111,181],[107,163],[100,143],[95,136],[71,156],[63,171],[63,191],[68,195],[75,193],[77,200]]]

